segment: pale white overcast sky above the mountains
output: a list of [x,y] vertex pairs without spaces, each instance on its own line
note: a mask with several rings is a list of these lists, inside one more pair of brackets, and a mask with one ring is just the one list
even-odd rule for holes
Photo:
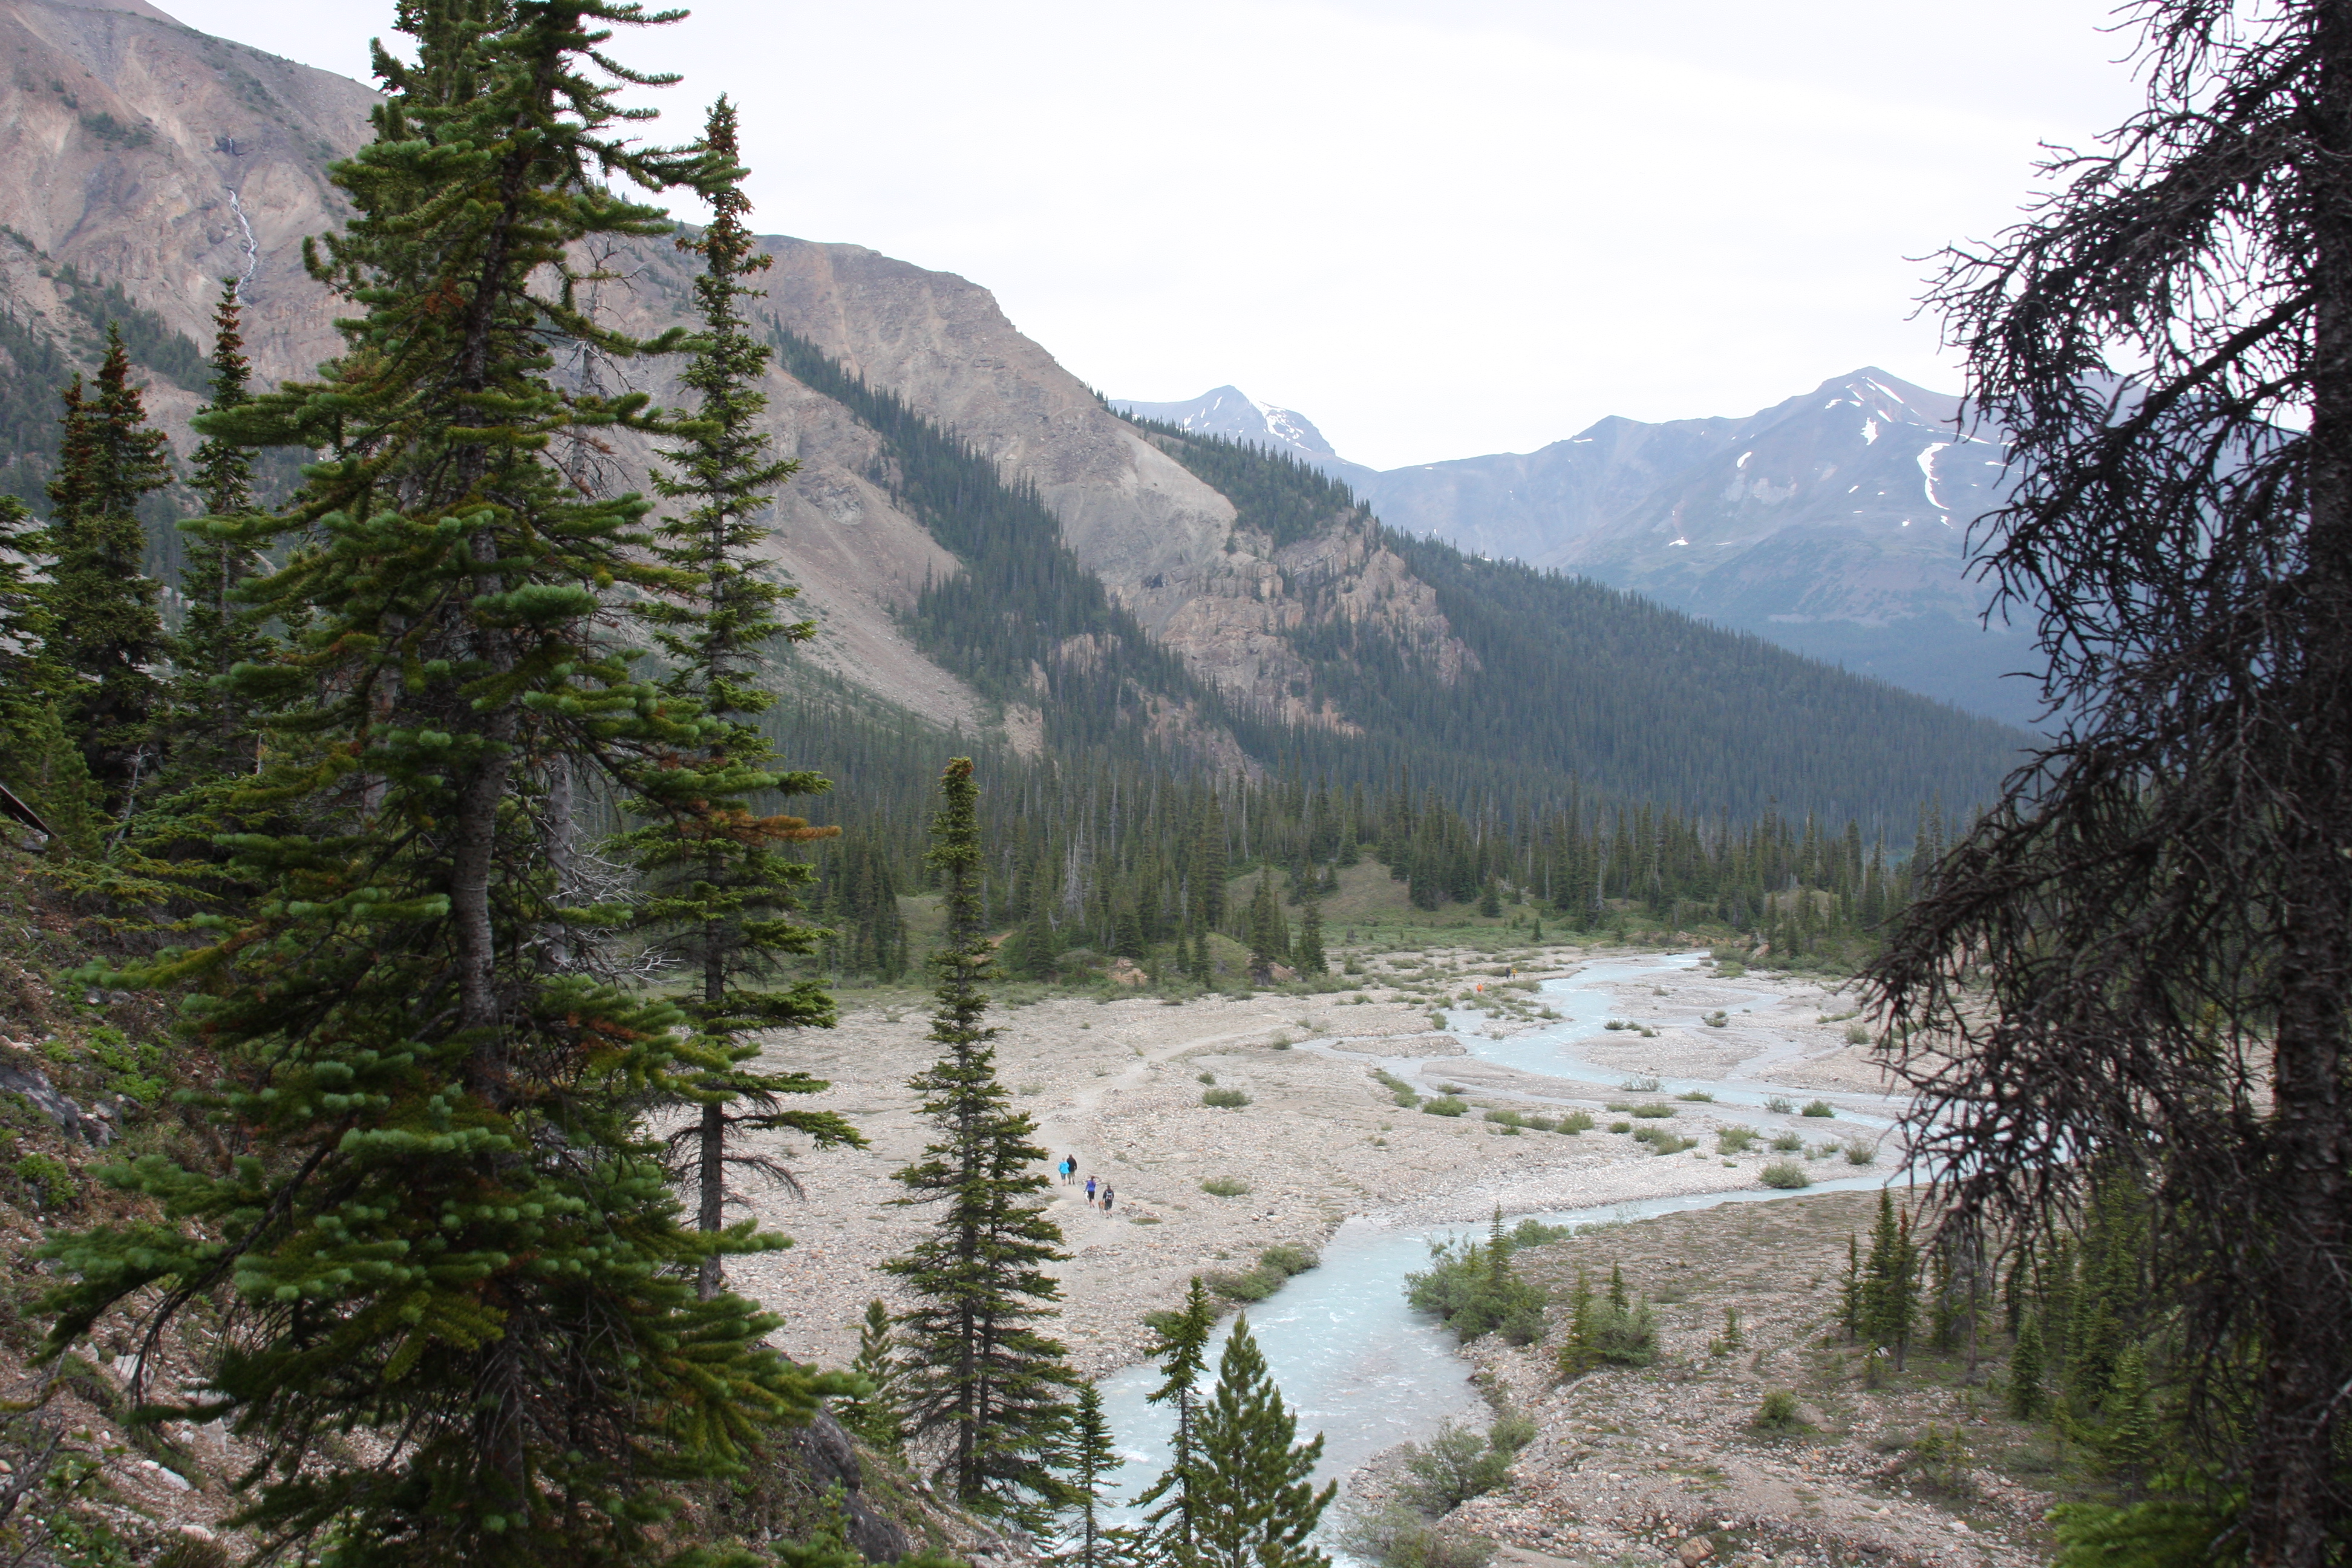
[[[362,80],[393,14],[162,7]],[[687,78],[637,99],[668,136],[741,103],[762,233],[960,273],[1112,397],[1232,383],[1402,468],[1863,364],[1957,390],[1929,259],[2133,110],[2107,9],[699,0],[612,49]]]

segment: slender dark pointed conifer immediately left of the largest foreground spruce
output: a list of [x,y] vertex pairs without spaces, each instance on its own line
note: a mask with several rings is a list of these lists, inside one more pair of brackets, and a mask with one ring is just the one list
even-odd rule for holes
[[[205,414],[235,409],[249,397],[242,306],[238,280],[221,280],[212,308],[212,402]],[[259,663],[270,651],[263,625],[238,602],[240,585],[268,562],[247,543],[254,505],[254,458],[245,447],[205,437],[195,449],[191,487],[202,517],[181,527],[188,536],[179,590],[186,611],[172,639],[169,778],[174,785],[205,783],[221,773],[252,773],[259,736],[249,701],[228,682],[240,663]],[[228,527],[214,520],[233,520]]]

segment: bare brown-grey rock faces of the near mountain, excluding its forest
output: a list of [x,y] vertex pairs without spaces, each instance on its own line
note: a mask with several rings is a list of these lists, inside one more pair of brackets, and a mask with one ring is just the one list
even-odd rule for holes
[[[301,242],[341,221],[325,165],[367,139],[376,94],[207,38],[143,0],[0,0],[0,155],[16,172],[0,186],[12,317],[87,364],[94,331],[68,306],[71,266],[205,346],[219,280],[235,275],[259,376],[301,376],[336,353],[334,303],[303,273]],[[1449,675],[1463,668],[1430,590],[1362,517],[1279,552],[1237,531],[1225,496],[1021,336],[988,289],[856,244],[764,244],[764,308],[783,327],[1035,487],[1110,595],[1230,696],[1345,726],[1345,715],[1310,712],[1308,668],[1282,635],[1319,616],[1369,616]],[[687,313],[689,273],[670,247],[644,247],[626,270],[602,299],[616,324]],[[677,397],[675,367],[649,374],[647,390]],[[988,715],[898,630],[894,614],[957,562],[875,482],[875,435],[781,369],[769,397],[779,444],[802,463],[779,501],[774,552],[821,625],[809,656],[929,719],[1002,717],[1016,743],[1033,738],[1035,715]],[[186,451],[198,393],[158,378],[151,402]],[[609,482],[642,484],[649,456],[621,451]]]

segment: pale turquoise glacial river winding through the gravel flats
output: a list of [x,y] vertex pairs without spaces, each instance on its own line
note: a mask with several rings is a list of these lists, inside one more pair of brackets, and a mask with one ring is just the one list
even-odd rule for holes
[[[1557,1079],[1557,1093],[1519,1091],[1501,1093],[1529,1105],[1597,1105],[1595,1088],[1618,1091],[1623,1070],[1602,1067],[1576,1056],[1576,1046],[1606,1027],[1606,1020],[1625,1009],[1613,987],[1642,983],[1649,976],[1675,969],[1693,969],[1696,954],[1656,954],[1635,959],[1611,959],[1588,964],[1571,976],[1545,980],[1541,999],[1562,1018],[1543,1030],[1515,1034],[1510,1039],[1486,1032],[1482,1013],[1449,1011],[1446,1032],[1454,1034],[1470,1056],[1519,1072]],[[1764,1004],[1778,1001],[1771,992],[1757,992]],[[1698,1025],[1698,1018],[1686,1023]],[[1303,1041],[1303,1051],[1327,1051],[1345,1056],[1345,1041]],[[1884,1128],[1896,1114],[1896,1105],[1879,1095],[1830,1093],[1813,1088],[1790,1088],[1773,1084],[1757,1072],[1769,1072],[1773,1063],[1790,1060],[1797,1046],[1766,1051],[1740,1063],[1724,1079],[1661,1079],[1668,1095],[1708,1091],[1715,1095],[1710,1112],[1755,1121],[1757,1126],[1780,1126],[1788,1119],[1766,1110],[1773,1095],[1828,1098],[1846,1124]],[[1369,1060],[1369,1058],[1367,1058]],[[1414,1081],[1425,1093],[1437,1093],[1432,1077],[1444,1077],[1446,1063],[1461,1058],[1383,1058],[1381,1065]],[[1479,1091],[1489,1093],[1489,1091]],[[1884,1171],[1842,1180],[1813,1182],[1804,1192],[1837,1192],[1877,1187],[1886,1182]],[[1738,1187],[1729,1192],[1686,1192],[1677,1197],[1637,1199],[1606,1204],[1599,1208],[1569,1208],[1531,1213],[1548,1225],[1606,1225],[1618,1220],[1642,1220],[1661,1213],[1689,1208],[1712,1208],[1717,1204],[1757,1204],[1802,1192],[1773,1192],[1769,1187]],[[1529,1218],[1512,1211],[1505,1213]],[[1282,1385],[1282,1396],[1298,1415],[1301,1436],[1322,1432],[1324,1453],[1317,1467],[1317,1483],[1345,1476],[1374,1455],[1395,1443],[1418,1441],[1437,1432],[1449,1418],[1484,1422],[1484,1401],[1470,1385],[1468,1363],[1454,1352],[1454,1335],[1435,1319],[1428,1319],[1404,1302],[1404,1276],[1428,1267],[1430,1244],[1461,1234],[1461,1225],[1418,1227],[1383,1222],[1378,1215],[1357,1215],[1338,1227],[1324,1246],[1322,1267],[1296,1274],[1272,1298],[1249,1307],[1249,1328],[1265,1352],[1268,1371]],[[1218,1347],[1225,1331],[1218,1331]],[[1214,1375],[1216,1354],[1209,1368]],[[1127,1469],[1120,1474],[1122,1495],[1134,1497],[1169,1462],[1171,1420],[1164,1406],[1148,1403],[1157,1387],[1157,1368],[1129,1366],[1101,1380],[1103,1410],[1117,1434]]]

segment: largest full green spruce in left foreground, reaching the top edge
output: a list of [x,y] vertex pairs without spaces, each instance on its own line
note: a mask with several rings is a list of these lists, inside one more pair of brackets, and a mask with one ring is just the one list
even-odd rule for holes
[[[626,139],[604,0],[400,9],[376,139],[334,165],[350,226],[313,254],[348,350],[202,421],[327,447],[256,583],[301,628],[238,691],[287,741],[254,780],[301,832],[240,842],[266,889],[186,983],[249,1154],[113,1178],[162,1218],[49,1246],[47,1354],[139,1302],[143,1347],[230,1298],[209,1392],[259,1446],[240,1519],[336,1568],[609,1563],[656,1552],[675,1483],[727,1474],[760,1422],[847,1385],[696,1298],[703,1248],[640,1131],[677,1009],[567,969],[548,875],[550,762],[699,733],[597,639],[607,585],[659,588],[637,496],[583,496],[550,440],[647,425],[644,397],[550,383],[550,346],[626,355],[574,308],[590,242],[668,233],[616,186],[682,169]],[[539,284],[539,287],[534,287]],[[666,348],[661,343],[659,348]],[[148,1385],[134,1380],[134,1396]],[[358,1450],[329,1434],[362,1432]]]

